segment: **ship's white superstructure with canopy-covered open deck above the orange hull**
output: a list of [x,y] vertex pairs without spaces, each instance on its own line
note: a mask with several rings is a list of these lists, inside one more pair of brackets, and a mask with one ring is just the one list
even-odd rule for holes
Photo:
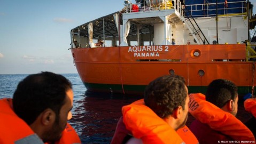
[[[183,27],[182,2],[179,0],[143,0],[146,6],[139,7],[137,11],[132,9],[133,5],[143,4],[131,4],[129,1],[125,1],[128,3],[121,11],[72,29],[71,42],[76,40],[81,47],[92,47],[97,39],[112,41],[111,45],[104,46],[170,44],[175,38],[172,37],[172,31]],[[158,2],[161,3],[157,4]],[[180,25],[176,25],[177,23]]]

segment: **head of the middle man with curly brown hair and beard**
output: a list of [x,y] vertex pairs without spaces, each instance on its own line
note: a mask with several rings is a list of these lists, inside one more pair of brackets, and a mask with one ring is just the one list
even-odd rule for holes
[[146,86],[145,105],[159,117],[173,117],[175,130],[183,127],[188,118],[188,88],[181,76],[166,75],[159,77]]

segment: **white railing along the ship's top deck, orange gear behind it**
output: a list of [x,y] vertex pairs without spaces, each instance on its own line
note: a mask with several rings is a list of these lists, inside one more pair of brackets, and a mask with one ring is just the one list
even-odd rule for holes
[[[137,1],[136,0],[135,4],[131,3],[131,0],[125,0],[124,5],[126,6],[127,13],[175,9],[177,12],[183,15],[182,2],[180,0],[154,0],[154,1],[149,1],[149,0]],[[141,5],[141,6],[138,6],[138,5]],[[138,7],[138,9],[136,9],[136,7]]]

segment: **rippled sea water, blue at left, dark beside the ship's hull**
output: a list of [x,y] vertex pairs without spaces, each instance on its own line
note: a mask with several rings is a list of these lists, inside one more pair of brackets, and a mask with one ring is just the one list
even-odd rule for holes
[[[121,107],[143,98],[142,95],[89,93],[78,74],[62,74],[73,84],[73,118],[69,123],[74,127],[82,143],[110,143],[115,127],[121,116]],[[12,98],[18,83],[28,75],[0,75],[0,99]],[[252,115],[238,102],[237,118],[246,122]],[[193,121],[189,115],[187,125]]]

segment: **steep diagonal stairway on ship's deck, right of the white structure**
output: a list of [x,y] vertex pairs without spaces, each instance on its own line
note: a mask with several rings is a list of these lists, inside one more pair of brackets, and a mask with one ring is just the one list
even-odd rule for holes
[[[197,44],[205,44],[205,42],[207,42],[207,44],[210,44],[207,40],[207,38],[205,37],[203,31],[201,31],[200,27],[197,25],[197,22],[195,21],[195,19],[193,18],[191,12],[187,9],[186,5],[182,2],[182,4],[184,5],[184,9],[182,9],[185,17],[181,17],[182,21],[185,22],[185,24],[187,25],[190,33],[192,34],[192,36],[195,38]],[[195,25],[193,24],[195,23]],[[201,33],[201,35],[200,35]],[[200,40],[197,38],[200,38]]]

